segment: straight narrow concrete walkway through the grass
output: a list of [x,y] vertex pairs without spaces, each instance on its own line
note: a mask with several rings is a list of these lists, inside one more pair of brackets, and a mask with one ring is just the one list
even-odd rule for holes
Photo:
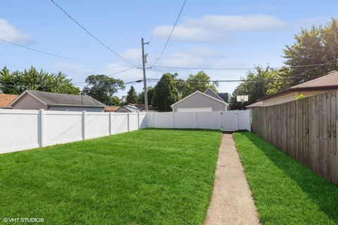
[[206,225],[260,224],[232,134],[223,134]]

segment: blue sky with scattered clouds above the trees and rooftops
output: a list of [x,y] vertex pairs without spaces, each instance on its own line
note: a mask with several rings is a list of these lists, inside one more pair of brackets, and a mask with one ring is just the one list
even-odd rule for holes
[[[141,38],[149,64],[165,44],[182,1],[65,1],[55,0],[113,51],[134,64],[142,63]],[[47,72],[62,71],[74,83],[88,75],[130,68],[75,25],[49,0],[1,1],[0,39],[92,64],[45,56],[0,41],[0,66],[10,70],[30,65]],[[338,1],[192,1],[181,18],[158,65],[199,68],[251,68],[282,65],[282,49],[292,44],[301,27],[325,25],[338,18]],[[96,65],[97,64],[97,65]],[[18,67],[18,68],[16,68]],[[161,71],[160,71],[161,70]],[[180,78],[198,70],[148,70],[148,78],[178,72]],[[244,71],[206,70],[211,79],[239,79]],[[125,82],[142,79],[142,70],[114,75]],[[155,83],[149,82],[154,86]],[[77,84],[82,86],[83,84]],[[238,83],[221,83],[220,92],[232,92]],[[134,84],[137,91],[142,84]],[[124,96],[119,91],[118,96]]]

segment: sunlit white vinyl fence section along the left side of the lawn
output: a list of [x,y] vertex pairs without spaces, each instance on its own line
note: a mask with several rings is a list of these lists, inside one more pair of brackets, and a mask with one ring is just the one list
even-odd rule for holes
[[146,113],[0,110],[0,153],[146,128]]

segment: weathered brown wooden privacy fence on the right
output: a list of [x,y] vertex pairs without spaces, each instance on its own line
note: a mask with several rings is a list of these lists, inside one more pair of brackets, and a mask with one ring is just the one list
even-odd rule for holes
[[327,180],[338,184],[338,91],[254,108],[252,130]]

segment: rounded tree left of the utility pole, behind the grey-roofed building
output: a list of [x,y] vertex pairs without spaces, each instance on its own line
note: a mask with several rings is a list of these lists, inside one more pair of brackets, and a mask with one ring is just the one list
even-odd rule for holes
[[120,89],[125,89],[122,80],[114,79],[106,75],[89,75],[85,82],[87,86],[82,90],[82,94],[92,96],[101,103],[112,105],[111,97]]

